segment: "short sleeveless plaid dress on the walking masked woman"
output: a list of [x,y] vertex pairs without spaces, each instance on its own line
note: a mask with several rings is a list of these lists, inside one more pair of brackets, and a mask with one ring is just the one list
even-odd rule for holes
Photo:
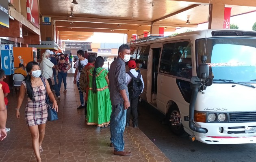
[[[42,78],[46,84],[46,79]],[[25,81],[22,81],[25,88],[27,89]],[[25,108],[25,118],[28,126],[36,126],[40,124],[46,124],[48,112],[48,105],[46,103],[46,88],[44,85],[33,87],[35,101],[30,100]]]

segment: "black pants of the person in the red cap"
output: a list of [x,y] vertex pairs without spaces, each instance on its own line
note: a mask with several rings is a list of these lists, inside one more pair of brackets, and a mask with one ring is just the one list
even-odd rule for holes
[[130,99],[130,107],[126,112],[126,123],[130,123],[130,115],[132,113],[132,124],[138,124],[138,100]]

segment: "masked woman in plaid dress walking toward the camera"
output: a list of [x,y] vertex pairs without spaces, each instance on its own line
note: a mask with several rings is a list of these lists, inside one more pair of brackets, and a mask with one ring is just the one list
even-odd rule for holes
[[58,105],[48,81],[46,78],[41,77],[41,70],[37,62],[28,62],[26,70],[28,76],[25,77],[20,86],[16,117],[20,119],[20,107],[25,94],[27,94],[28,102],[25,108],[26,123],[31,133],[32,145],[37,162],[41,162],[40,152],[43,151],[42,142],[48,117],[46,93],[53,102],[52,108],[58,111]]

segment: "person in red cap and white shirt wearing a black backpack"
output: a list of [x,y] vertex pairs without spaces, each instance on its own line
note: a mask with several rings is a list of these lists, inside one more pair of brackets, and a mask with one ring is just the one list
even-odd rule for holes
[[126,85],[128,87],[130,107],[126,112],[126,127],[130,126],[130,113],[132,112],[133,128],[138,126],[138,100],[139,95],[143,92],[144,82],[141,73],[135,70],[136,63],[134,60],[128,62],[129,72],[126,72]]

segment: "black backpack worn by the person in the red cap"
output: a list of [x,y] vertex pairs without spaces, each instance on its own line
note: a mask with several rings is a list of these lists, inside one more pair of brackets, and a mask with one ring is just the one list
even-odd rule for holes
[[135,78],[132,73],[127,72],[132,77],[132,80],[128,84],[128,92],[130,99],[138,99],[143,89],[143,83],[141,81],[141,73]]

